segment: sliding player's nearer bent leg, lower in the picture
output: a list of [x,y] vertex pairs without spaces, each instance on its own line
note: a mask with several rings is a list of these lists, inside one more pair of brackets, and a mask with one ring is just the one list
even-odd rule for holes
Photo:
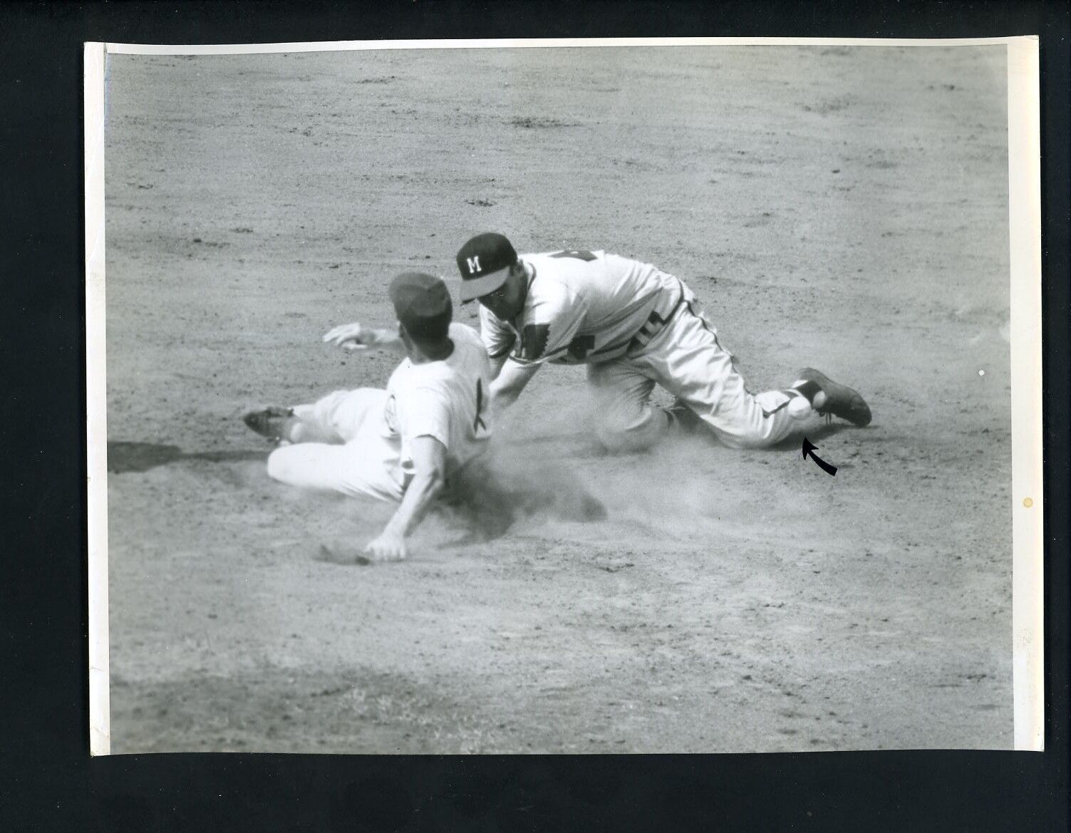
[[402,499],[402,486],[391,476],[396,469],[397,450],[374,435],[344,445],[283,445],[268,456],[268,474],[280,483],[377,500]]

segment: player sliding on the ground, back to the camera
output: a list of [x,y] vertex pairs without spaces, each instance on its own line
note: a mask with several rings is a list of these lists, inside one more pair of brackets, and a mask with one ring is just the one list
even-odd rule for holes
[[343,324],[323,336],[346,349],[405,353],[387,390],[335,391],[312,405],[245,414],[245,424],[282,444],[268,473],[292,486],[398,501],[366,551],[405,558],[406,536],[454,475],[481,457],[492,428],[487,352],[476,331],[452,323],[440,278],[416,272],[390,285],[396,332]]

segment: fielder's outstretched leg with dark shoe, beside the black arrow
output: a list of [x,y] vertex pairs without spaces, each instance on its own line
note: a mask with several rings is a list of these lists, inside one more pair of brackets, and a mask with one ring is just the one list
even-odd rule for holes
[[[801,378],[788,388],[752,394],[731,353],[719,343],[714,328],[695,302],[667,322],[637,361],[648,365],[663,387],[692,408],[723,443],[734,448],[773,445],[814,430],[823,422],[823,409],[829,407],[833,388],[839,389],[834,392],[838,402],[844,392],[858,397],[855,391],[813,370],[808,372],[812,376],[801,372]],[[842,411],[838,409],[838,414],[845,415]],[[869,420],[866,410],[865,422]],[[853,421],[865,424],[861,419]]]

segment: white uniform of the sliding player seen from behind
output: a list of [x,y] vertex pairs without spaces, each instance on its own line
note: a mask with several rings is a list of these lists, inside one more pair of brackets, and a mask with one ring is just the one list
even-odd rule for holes
[[298,442],[268,457],[268,473],[292,486],[401,500],[412,478],[412,442],[434,437],[447,450],[447,483],[491,441],[491,363],[476,331],[450,324],[453,352],[413,364],[405,359],[387,390],[335,391],[296,417],[330,442]]

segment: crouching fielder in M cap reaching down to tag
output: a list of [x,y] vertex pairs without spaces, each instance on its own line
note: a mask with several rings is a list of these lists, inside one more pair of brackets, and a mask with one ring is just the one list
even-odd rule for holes
[[[586,364],[610,449],[651,445],[705,423],[726,445],[760,448],[813,429],[826,414],[866,425],[863,397],[813,368],[783,390],[752,394],[691,289],[678,277],[605,252],[517,256],[502,234],[457,253],[462,303],[480,302],[495,380],[492,412],[511,405],[546,362]],[[654,385],[677,397],[651,403]]]

